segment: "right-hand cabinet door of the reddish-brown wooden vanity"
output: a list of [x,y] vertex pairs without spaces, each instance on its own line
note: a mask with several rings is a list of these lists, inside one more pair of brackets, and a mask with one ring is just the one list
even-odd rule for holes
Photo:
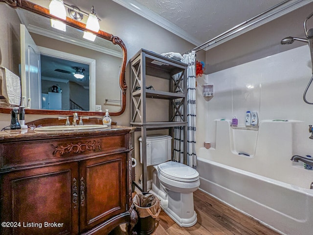
[[127,153],[82,161],[79,177],[80,232],[126,211]]

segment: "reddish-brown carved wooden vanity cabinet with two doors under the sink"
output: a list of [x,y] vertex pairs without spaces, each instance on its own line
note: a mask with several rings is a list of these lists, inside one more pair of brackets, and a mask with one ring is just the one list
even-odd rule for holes
[[106,235],[130,222],[133,131],[2,139],[0,221],[11,223],[0,234]]

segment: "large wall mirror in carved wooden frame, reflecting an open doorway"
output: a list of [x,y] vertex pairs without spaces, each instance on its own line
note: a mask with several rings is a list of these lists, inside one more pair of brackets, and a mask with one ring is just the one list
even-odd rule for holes
[[[0,16],[7,35],[0,37],[0,64],[21,77],[26,114],[124,112],[127,50],[120,38],[99,30],[94,42],[86,40],[84,23],[60,20],[27,0],[0,0]],[[52,28],[50,19],[66,23],[66,31]],[[1,113],[10,110],[0,104]]]

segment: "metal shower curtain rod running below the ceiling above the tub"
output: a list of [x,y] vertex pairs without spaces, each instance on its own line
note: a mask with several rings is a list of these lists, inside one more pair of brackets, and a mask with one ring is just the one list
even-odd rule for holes
[[[195,51],[197,52],[197,51],[202,50],[202,49],[204,49],[204,48],[206,48],[206,47],[210,47],[210,46],[212,46],[213,44],[216,44],[216,43],[218,43],[218,42],[220,42],[220,41],[222,41],[222,40],[224,40],[224,39],[226,39],[226,38],[228,38],[228,37],[234,35],[235,33],[238,33],[238,32],[240,32],[240,31],[244,30],[245,28],[247,28],[247,27],[249,27],[249,26],[251,26],[251,25],[253,25],[253,24],[257,24],[257,23],[259,23],[259,22],[261,22],[261,21],[267,19],[267,18],[270,17],[270,16],[273,16],[273,15],[275,15],[275,14],[277,14],[277,13],[279,13],[279,12],[281,12],[281,11],[283,11],[283,10],[285,10],[285,9],[287,9],[287,8],[289,8],[289,7],[291,7],[291,6],[293,6],[293,5],[298,4],[299,2],[306,1],[306,0],[298,0],[298,1],[294,2],[294,3],[292,3],[291,5],[288,5],[288,6],[284,7],[284,8],[282,8],[282,9],[280,9],[279,11],[273,12],[272,14],[269,14],[269,15],[267,15],[267,16],[264,16],[263,18],[261,18],[261,19],[255,21],[255,22],[252,22],[251,24],[248,24],[249,22],[251,22],[251,21],[253,21],[253,20],[255,20],[255,19],[257,19],[257,18],[259,18],[259,17],[261,17],[261,16],[263,16],[263,15],[265,15],[265,14],[267,14],[268,12],[270,12],[270,11],[272,11],[272,10],[274,10],[274,9],[276,9],[276,8],[278,8],[278,7],[280,7],[281,5],[286,4],[286,3],[289,2],[289,1],[291,1],[291,0],[285,0],[285,1],[281,2],[281,3],[278,3],[277,5],[275,5],[275,6],[271,7],[271,8],[269,8],[268,10],[266,10],[266,11],[264,11],[264,12],[262,12],[262,13],[260,13],[259,15],[256,15],[256,16],[252,17],[251,19],[249,19],[249,20],[247,20],[247,21],[245,21],[245,22],[243,22],[243,23],[241,23],[241,24],[238,24],[238,25],[232,27],[231,29],[228,29],[228,30],[225,31],[224,33],[222,33],[222,34],[216,36],[215,38],[213,38],[213,39],[211,39],[211,40],[209,40],[209,41],[207,41],[207,42],[205,42],[205,43],[203,43],[203,44],[201,44],[201,45],[198,46],[198,47],[195,47],[195,48],[193,48],[193,49],[191,49],[191,50],[189,50],[189,51],[186,51],[185,53],[188,53],[188,52],[190,52],[190,51],[192,51],[192,50],[195,50]],[[245,25],[245,24],[248,24],[248,25],[242,27],[242,26]],[[240,27],[241,27],[241,28],[240,28]],[[236,30],[236,29],[237,29],[237,30]],[[236,30],[236,31],[234,31],[234,30]],[[232,32],[232,31],[233,31],[233,32]]]

